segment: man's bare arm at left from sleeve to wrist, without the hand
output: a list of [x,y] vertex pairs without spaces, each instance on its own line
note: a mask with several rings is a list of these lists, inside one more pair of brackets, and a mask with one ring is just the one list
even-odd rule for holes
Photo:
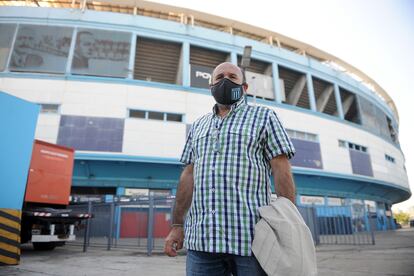
[[193,198],[193,187],[193,165],[188,165],[182,172],[178,184],[173,209],[173,224],[184,224],[184,216],[187,213],[188,208],[190,208],[191,200]]

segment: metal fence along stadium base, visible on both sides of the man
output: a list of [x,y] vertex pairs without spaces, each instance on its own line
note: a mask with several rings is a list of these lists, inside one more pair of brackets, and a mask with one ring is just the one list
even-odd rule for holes
[[[115,198],[113,202],[71,205],[72,210],[93,215],[77,229],[76,241],[83,247],[134,249],[151,255],[162,251],[170,230],[174,197]],[[352,206],[298,207],[313,240],[319,244],[375,244],[372,228]]]

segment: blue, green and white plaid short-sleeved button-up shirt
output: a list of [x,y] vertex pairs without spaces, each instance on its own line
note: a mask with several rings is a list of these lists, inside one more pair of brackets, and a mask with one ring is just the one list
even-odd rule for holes
[[194,164],[194,190],[185,222],[187,249],[251,256],[258,208],[270,203],[269,161],[295,149],[276,113],[240,100],[220,118],[191,126],[181,162]]

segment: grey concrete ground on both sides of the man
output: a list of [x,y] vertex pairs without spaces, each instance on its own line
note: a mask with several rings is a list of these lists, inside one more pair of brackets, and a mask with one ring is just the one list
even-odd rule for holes
[[[320,276],[413,276],[414,229],[377,233],[376,245],[317,247]],[[185,256],[169,258],[162,254],[147,257],[136,250],[79,246],[35,252],[22,251],[21,264],[0,267],[0,275],[184,275]]]

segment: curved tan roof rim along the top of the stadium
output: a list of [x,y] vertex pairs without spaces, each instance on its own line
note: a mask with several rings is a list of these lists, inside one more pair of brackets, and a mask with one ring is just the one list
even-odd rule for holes
[[76,8],[81,10],[107,11],[116,13],[126,13],[143,15],[148,17],[160,18],[182,24],[191,24],[233,35],[243,36],[253,40],[261,41],[284,48],[298,54],[316,59],[331,68],[346,73],[358,82],[367,86],[377,96],[379,96],[394,112],[399,121],[397,107],[388,93],[372,78],[346,63],[334,55],[317,49],[309,44],[292,39],[280,33],[255,27],[236,20],[227,19],[187,8],[180,8],[165,4],[142,0],[24,0],[24,1],[0,1],[0,6],[33,6],[49,8]]

